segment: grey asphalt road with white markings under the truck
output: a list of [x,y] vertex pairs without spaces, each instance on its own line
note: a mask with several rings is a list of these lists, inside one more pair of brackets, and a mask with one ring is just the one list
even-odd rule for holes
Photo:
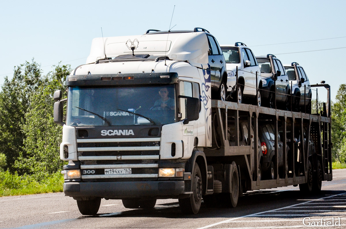
[[322,182],[317,195],[302,196],[293,186],[252,191],[234,209],[202,203],[200,212],[189,216],[172,199],[157,200],[153,210],[129,210],[121,200],[102,199],[98,213],[83,216],[63,193],[0,198],[1,228],[320,228],[314,223],[322,218],[326,226],[334,218],[335,228],[346,228],[346,169],[334,170],[333,181]]

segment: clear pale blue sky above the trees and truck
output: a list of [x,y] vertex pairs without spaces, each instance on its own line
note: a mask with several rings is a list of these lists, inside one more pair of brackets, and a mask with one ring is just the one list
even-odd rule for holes
[[[104,37],[167,30],[175,5],[174,29],[206,28],[220,44],[243,42],[256,56],[278,54],[283,63],[298,62],[311,83],[331,85],[334,100],[339,85],[346,83],[346,48],[340,48],[346,47],[345,2],[2,1],[0,84],[6,75],[12,77],[14,66],[32,58],[44,73],[60,61],[72,68],[84,64],[101,27]],[[317,41],[300,42],[307,40]],[[289,42],[299,43],[277,44]],[[303,52],[331,48],[339,49]],[[282,54],[292,52],[302,53]],[[326,101],[322,91],[320,100]]]

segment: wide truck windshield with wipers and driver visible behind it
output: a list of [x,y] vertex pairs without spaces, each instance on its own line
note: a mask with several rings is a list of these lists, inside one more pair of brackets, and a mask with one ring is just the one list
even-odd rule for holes
[[[66,125],[160,125],[177,121],[174,85],[70,87]],[[138,114],[138,115],[137,115]]]

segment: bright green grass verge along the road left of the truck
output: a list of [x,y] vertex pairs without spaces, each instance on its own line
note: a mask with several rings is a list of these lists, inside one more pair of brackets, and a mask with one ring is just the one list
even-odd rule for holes
[[63,183],[64,178],[60,173],[38,179],[29,175],[10,174],[8,171],[0,172],[0,196],[62,192]]

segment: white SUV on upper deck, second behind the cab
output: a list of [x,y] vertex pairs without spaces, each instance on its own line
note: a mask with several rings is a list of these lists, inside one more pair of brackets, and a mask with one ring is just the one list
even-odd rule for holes
[[[228,93],[239,103],[244,98],[251,99],[254,104],[262,104],[262,80],[260,67],[255,55],[244,43],[236,42],[235,45],[221,45],[222,53],[226,60]],[[236,68],[238,67],[238,91],[236,91]],[[256,72],[257,88],[256,90]],[[257,91],[257,93],[256,93]]]

